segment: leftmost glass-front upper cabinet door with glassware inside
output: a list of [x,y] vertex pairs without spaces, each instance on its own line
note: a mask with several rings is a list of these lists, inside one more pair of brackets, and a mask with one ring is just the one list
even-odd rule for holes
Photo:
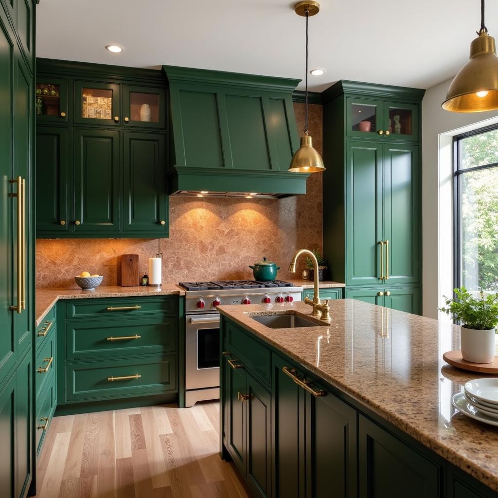
[[67,123],[67,80],[36,78],[36,121]]

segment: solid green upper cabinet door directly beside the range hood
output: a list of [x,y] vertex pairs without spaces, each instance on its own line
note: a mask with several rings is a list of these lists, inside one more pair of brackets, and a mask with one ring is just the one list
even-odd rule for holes
[[124,133],[123,162],[124,231],[166,237],[165,135]]

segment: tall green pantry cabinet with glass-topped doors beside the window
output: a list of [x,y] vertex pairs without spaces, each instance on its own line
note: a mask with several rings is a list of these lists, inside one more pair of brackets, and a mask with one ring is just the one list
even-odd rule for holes
[[346,297],[419,314],[424,90],[339,81],[323,94],[324,253]]

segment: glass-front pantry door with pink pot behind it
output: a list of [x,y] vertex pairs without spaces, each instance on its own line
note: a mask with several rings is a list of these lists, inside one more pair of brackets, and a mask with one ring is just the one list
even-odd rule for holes
[[356,137],[373,137],[382,127],[382,101],[355,99],[346,101],[346,135]]

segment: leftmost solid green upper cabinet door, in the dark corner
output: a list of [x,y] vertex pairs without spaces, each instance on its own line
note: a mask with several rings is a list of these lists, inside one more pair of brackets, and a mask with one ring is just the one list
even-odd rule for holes
[[36,235],[66,234],[70,228],[67,128],[36,129]]

